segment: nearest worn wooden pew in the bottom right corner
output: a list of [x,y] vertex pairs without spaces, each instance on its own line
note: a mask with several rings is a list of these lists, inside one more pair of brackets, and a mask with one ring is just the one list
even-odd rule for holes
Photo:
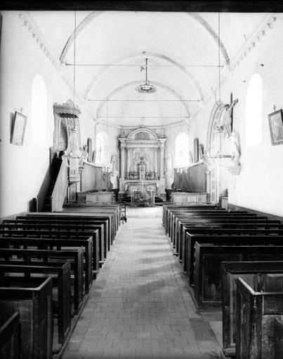
[[[237,278],[237,359],[279,359],[275,319],[283,315],[282,276],[265,276],[263,291]],[[276,348],[276,351],[275,351]]]

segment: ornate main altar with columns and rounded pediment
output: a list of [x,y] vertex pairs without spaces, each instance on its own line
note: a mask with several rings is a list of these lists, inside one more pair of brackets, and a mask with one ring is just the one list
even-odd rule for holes
[[133,191],[152,191],[165,198],[164,150],[166,138],[159,138],[149,128],[133,130],[119,137],[119,193],[131,196]]

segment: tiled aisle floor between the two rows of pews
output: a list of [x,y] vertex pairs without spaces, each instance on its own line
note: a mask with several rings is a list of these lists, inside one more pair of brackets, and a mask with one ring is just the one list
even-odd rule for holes
[[195,312],[162,208],[127,208],[63,359],[223,358],[217,313]]

